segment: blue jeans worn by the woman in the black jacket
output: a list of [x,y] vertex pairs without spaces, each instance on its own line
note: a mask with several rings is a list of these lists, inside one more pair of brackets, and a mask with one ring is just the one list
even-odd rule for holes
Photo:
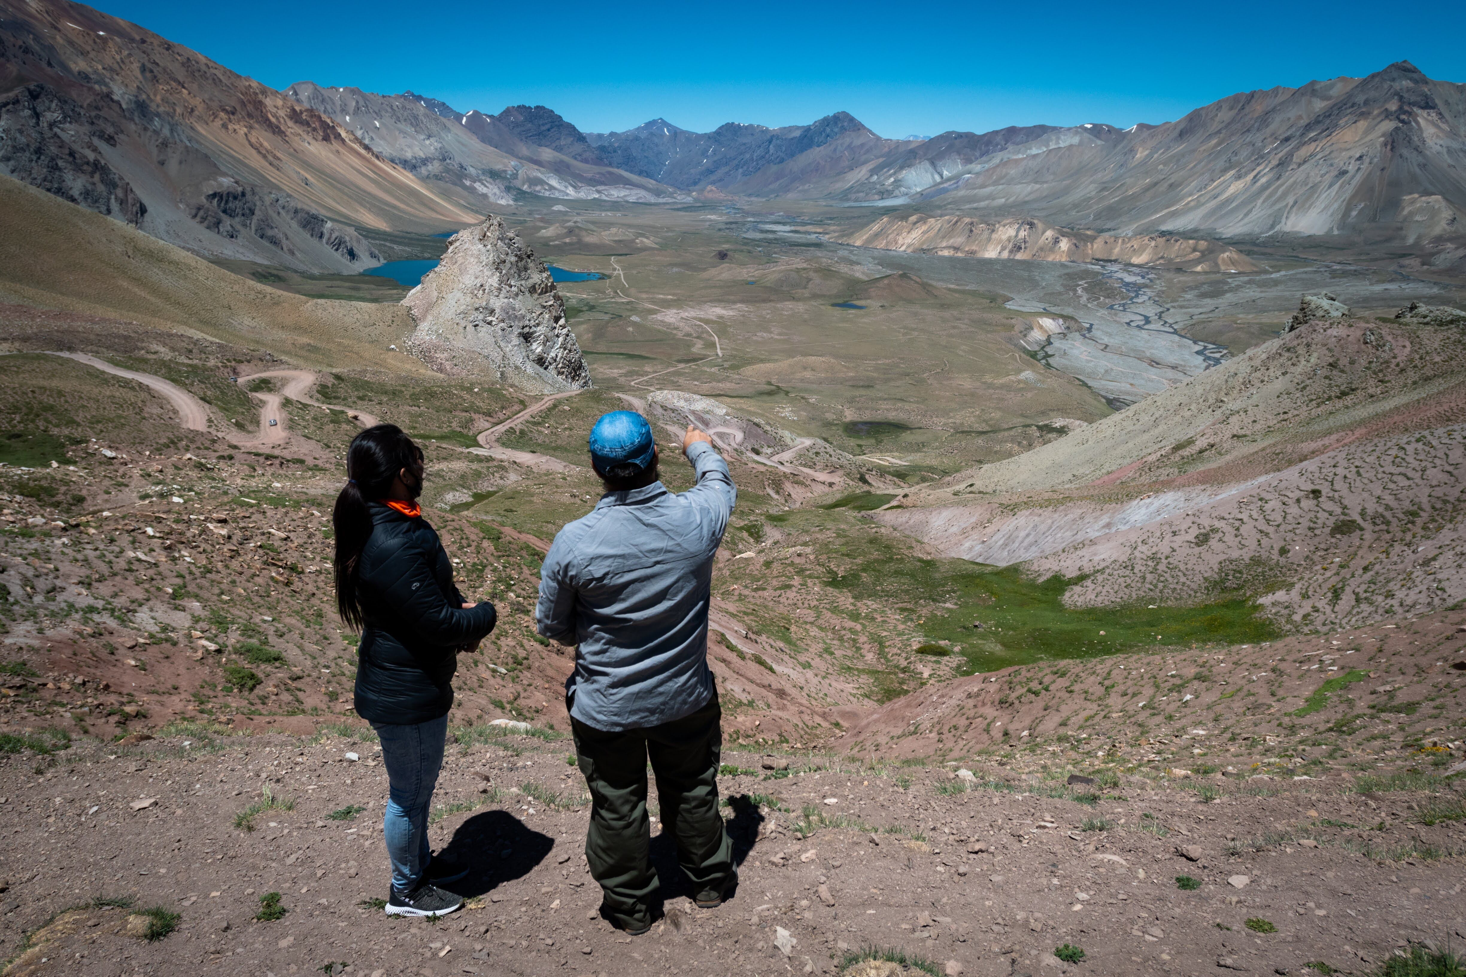
[[428,809],[443,768],[449,718],[371,725],[381,740],[381,762],[387,768],[388,798],[381,832],[391,858],[391,888],[408,895],[422,883],[422,873],[432,860]]

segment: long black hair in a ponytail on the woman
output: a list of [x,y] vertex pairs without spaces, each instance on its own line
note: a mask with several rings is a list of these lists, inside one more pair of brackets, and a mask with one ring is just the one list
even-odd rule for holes
[[366,428],[346,450],[346,486],[336,497],[331,524],[336,527],[336,608],[342,623],[361,630],[362,603],[358,593],[361,557],[371,539],[371,510],[366,502],[384,498],[403,469],[422,464],[422,448],[397,425]]

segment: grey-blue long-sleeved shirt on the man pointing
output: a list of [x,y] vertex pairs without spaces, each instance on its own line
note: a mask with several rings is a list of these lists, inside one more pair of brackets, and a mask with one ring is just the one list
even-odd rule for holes
[[711,444],[688,451],[698,483],[607,492],[566,524],[539,571],[541,634],[578,644],[570,715],[607,732],[682,719],[712,696],[712,554],[737,489]]

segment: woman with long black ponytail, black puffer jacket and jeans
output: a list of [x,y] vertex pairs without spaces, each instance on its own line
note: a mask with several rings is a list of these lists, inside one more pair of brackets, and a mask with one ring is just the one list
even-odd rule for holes
[[391,857],[390,915],[443,915],[463,899],[441,886],[466,869],[428,848],[428,806],[443,766],[457,653],[494,630],[494,605],[468,603],[453,564],[422,519],[422,450],[377,425],[346,451],[336,498],[336,603],[361,630],[356,715],[381,740],[390,785],[383,835]]

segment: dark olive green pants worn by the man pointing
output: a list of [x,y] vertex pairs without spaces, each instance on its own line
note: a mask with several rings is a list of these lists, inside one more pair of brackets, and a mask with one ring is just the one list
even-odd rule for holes
[[652,920],[658,885],[647,817],[648,756],[663,833],[676,841],[677,863],[693,894],[721,894],[736,873],[733,844],[718,813],[723,709],[717,693],[702,709],[658,727],[604,732],[572,716],[570,729],[591,788],[585,858],[601,883],[611,923],[635,930]]

